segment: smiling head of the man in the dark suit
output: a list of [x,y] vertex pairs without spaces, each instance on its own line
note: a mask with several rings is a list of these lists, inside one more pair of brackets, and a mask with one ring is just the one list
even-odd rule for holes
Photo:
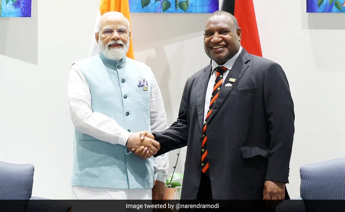
[[223,65],[239,50],[241,28],[226,13],[211,16],[205,25],[204,49],[209,58]]

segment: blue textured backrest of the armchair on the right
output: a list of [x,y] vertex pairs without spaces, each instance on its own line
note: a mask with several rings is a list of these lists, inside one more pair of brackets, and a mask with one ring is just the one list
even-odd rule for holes
[[345,199],[345,158],[302,165],[299,171],[303,200]]

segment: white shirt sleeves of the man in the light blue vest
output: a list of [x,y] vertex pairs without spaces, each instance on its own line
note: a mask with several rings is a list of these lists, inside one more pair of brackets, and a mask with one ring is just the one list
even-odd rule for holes
[[[101,141],[126,145],[130,132],[120,127],[116,120],[102,113],[92,112],[89,85],[76,64],[70,70],[68,100],[71,119],[78,131]],[[150,121],[152,133],[168,128],[163,98],[155,78],[150,98]],[[166,182],[168,157],[168,153],[165,153],[154,158],[155,180]]]

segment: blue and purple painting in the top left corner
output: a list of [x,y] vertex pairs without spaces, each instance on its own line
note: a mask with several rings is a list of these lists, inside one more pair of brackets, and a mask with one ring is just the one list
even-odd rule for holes
[[0,17],[31,17],[31,0],[0,0]]

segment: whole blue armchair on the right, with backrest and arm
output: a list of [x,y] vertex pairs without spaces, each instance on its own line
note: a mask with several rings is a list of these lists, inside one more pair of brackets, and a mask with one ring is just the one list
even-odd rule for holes
[[278,205],[276,212],[345,211],[345,158],[302,165],[300,198]]

